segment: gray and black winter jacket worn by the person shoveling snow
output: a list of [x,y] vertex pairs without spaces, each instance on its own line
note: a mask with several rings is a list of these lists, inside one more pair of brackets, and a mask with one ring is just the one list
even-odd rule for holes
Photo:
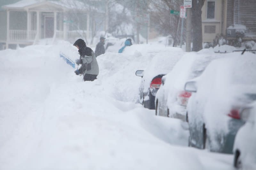
[[[84,46],[78,50],[80,53],[80,59],[83,60],[81,68],[83,69],[83,75],[85,74],[99,74],[99,66],[94,52],[91,48]],[[80,70],[80,69],[79,69]]]

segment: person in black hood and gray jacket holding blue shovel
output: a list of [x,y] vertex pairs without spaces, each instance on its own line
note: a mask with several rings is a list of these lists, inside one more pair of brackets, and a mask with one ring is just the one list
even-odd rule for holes
[[99,66],[94,52],[87,47],[83,39],[77,39],[73,44],[78,48],[80,59],[76,60],[76,64],[81,67],[75,71],[76,75],[83,74],[84,81],[94,81],[99,74]]

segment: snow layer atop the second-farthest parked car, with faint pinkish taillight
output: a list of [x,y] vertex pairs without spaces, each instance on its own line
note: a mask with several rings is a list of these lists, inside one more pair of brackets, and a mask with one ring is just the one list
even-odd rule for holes
[[157,93],[159,97],[167,97],[170,112],[172,112],[173,107],[171,105],[176,101],[177,93],[184,90],[185,82],[199,76],[209,62],[217,58],[220,58],[220,55],[214,53],[212,49],[204,49],[197,53],[186,53],[177,62],[172,71],[166,75],[165,84],[160,87],[160,91]]

